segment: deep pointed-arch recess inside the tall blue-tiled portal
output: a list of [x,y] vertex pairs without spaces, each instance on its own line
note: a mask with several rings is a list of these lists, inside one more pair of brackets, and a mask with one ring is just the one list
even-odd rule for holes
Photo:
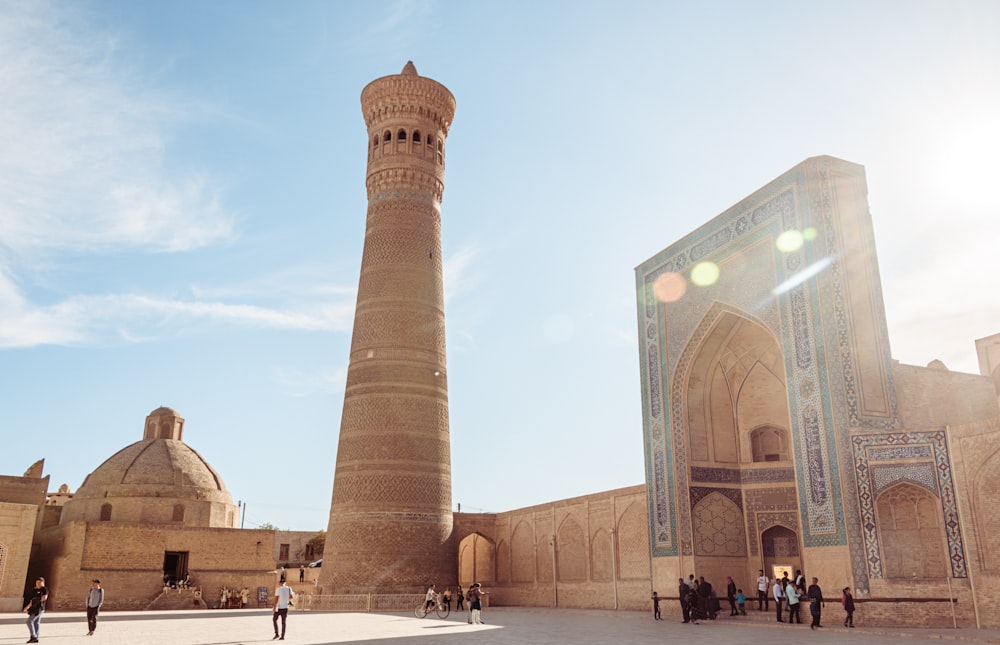
[[698,328],[672,384],[690,481],[678,503],[689,504],[693,571],[749,581],[776,546],[780,564],[798,563],[784,358],[773,334],[734,308],[713,308]]

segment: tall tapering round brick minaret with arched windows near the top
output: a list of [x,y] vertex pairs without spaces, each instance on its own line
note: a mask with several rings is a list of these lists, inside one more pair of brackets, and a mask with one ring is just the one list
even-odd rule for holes
[[361,92],[368,219],[322,593],[457,580],[441,195],[448,89],[412,62]]

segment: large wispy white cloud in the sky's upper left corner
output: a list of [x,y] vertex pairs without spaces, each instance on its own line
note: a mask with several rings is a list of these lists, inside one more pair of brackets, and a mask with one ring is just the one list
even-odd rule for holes
[[221,182],[163,168],[190,104],[145,88],[74,9],[0,3],[2,245],[179,251],[231,236]]

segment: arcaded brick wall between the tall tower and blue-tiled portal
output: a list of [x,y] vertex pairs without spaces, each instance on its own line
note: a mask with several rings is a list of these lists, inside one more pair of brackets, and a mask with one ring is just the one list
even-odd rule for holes
[[499,513],[455,514],[459,581],[493,606],[646,609],[644,485]]

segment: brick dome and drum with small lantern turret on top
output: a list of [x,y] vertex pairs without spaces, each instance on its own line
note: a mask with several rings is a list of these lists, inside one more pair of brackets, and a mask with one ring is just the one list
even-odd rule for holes
[[143,438],[108,458],[66,502],[74,521],[234,528],[239,513],[222,478],[182,440],[184,419],[161,407]]

